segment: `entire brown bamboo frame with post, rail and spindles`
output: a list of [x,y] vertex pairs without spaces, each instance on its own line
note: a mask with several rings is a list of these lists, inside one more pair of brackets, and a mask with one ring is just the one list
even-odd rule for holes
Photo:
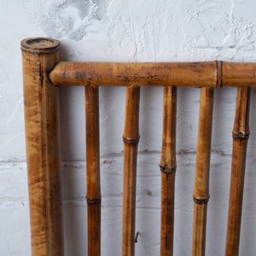
[[59,42],[52,38],[26,38],[21,42],[32,255],[63,255],[56,85],[83,85],[85,88],[88,255],[93,256],[101,254],[98,87],[127,87],[123,135],[123,256],[132,256],[135,251],[140,86],[164,86],[163,141],[160,159],[161,256],[172,255],[173,247],[177,87],[201,87],[193,195],[193,255],[205,254],[214,88],[237,87],[226,255],[238,255],[249,137],[250,87],[256,87],[256,63],[59,62],[59,49]]

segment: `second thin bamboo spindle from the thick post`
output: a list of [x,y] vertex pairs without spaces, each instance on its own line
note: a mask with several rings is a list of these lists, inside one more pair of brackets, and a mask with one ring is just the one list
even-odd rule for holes
[[140,87],[131,85],[126,90],[124,140],[124,198],[123,198],[123,256],[135,253],[135,210],[137,144],[139,142]]

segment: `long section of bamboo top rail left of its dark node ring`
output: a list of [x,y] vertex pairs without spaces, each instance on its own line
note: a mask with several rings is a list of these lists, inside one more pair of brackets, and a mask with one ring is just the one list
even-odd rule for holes
[[[217,86],[217,62],[60,62],[49,74],[56,85]],[[196,85],[195,85],[196,84]]]

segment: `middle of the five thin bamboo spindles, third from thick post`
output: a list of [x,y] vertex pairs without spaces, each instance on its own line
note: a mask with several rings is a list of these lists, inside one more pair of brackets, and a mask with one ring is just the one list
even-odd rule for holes
[[174,191],[176,172],[177,88],[164,88],[163,140],[161,171],[160,255],[173,253]]

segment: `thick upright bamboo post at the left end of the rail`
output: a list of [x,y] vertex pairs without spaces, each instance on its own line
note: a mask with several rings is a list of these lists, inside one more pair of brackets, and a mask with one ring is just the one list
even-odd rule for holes
[[21,42],[33,256],[63,255],[56,89],[48,79],[59,49],[51,38]]

